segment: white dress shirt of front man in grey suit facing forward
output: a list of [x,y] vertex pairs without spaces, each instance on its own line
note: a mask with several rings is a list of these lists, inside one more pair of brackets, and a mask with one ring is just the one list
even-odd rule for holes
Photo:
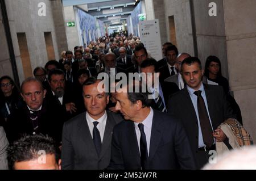
[[107,119],[107,117],[108,117],[108,116],[107,116],[106,111],[105,111],[105,113],[104,113],[103,116],[101,116],[98,120],[94,120],[92,117],[90,117],[89,113],[86,112],[86,121],[87,121],[89,130],[90,130],[90,135],[92,136],[92,138],[93,138],[93,128],[94,128],[93,122],[94,122],[94,121],[97,121],[97,122],[98,122],[98,124],[97,124],[97,129],[98,129],[98,131],[100,132],[101,143],[102,143],[103,137],[104,137],[104,132],[105,132],[105,127],[106,127],[106,119]]

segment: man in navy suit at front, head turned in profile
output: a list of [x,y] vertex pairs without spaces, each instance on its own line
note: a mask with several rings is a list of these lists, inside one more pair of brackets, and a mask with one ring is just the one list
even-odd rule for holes
[[[139,91],[129,92],[129,87]],[[108,168],[195,169],[184,128],[174,117],[152,110],[148,95],[137,81],[117,90],[115,109],[126,120],[113,129]]]

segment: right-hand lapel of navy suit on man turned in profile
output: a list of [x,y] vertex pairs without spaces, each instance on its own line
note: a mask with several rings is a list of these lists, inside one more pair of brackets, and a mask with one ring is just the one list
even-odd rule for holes
[[162,128],[161,124],[158,120],[157,112],[154,111],[154,116],[152,120],[152,128],[151,128],[151,138],[150,138],[150,161],[154,158],[155,151],[158,148],[161,138],[162,138]]

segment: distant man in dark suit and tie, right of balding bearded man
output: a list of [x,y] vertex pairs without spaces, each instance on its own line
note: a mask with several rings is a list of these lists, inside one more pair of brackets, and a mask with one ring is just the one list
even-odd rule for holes
[[131,62],[131,56],[126,53],[125,47],[119,48],[120,57],[117,58],[117,67],[129,71],[134,69],[134,64]]

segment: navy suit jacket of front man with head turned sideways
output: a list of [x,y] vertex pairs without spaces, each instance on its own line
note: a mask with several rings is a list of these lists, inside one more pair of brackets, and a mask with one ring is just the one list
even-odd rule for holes
[[[174,117],[154,110],[150,155],[146,169],[195,169],[195,161],[182,125]],[[133,121],[122,121],[113,130],[108,169],[141,169]]]

